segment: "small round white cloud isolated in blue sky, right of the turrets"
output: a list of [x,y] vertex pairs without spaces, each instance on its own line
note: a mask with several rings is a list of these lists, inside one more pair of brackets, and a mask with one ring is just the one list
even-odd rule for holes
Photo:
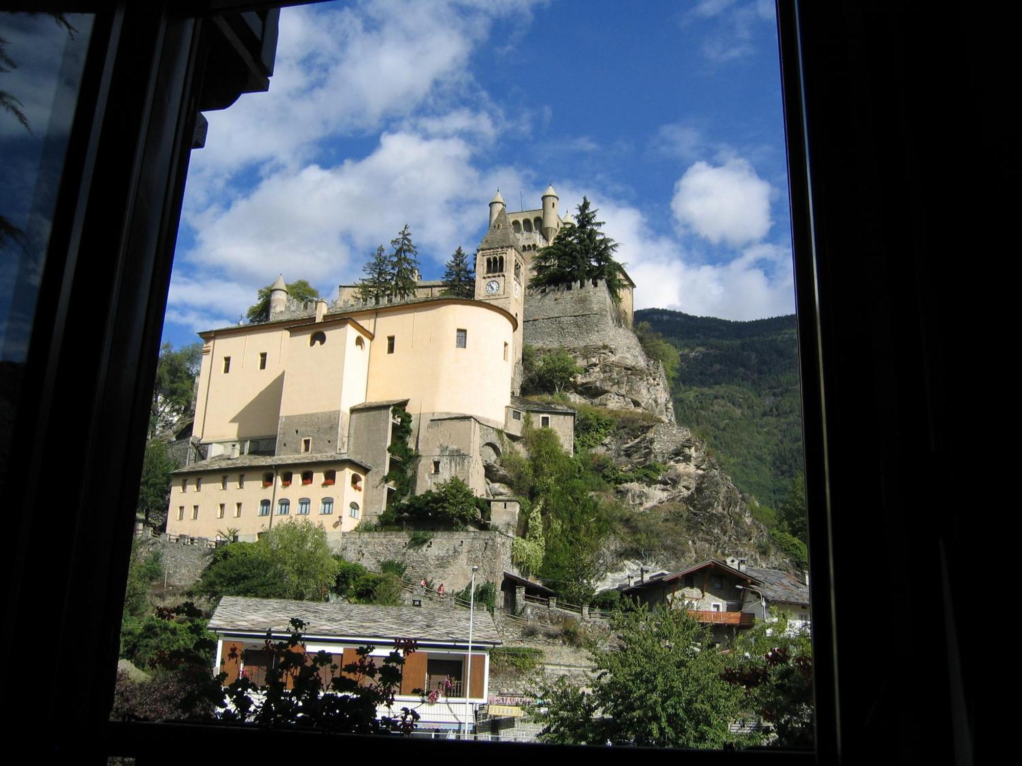
[[716,166],[700,161],[675,185],[670,209],[680,225],[713,244],[742,245],[766,236],[773,195],[740,157]]

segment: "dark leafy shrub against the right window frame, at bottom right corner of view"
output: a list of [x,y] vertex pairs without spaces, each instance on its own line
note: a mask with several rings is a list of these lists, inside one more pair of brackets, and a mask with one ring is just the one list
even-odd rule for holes
[[791,628],[772,609],[770,620],[742,631],[724,679],[744,692],[744,707],[777,735],[778,747],[811,746],[812,645],[808,630]]

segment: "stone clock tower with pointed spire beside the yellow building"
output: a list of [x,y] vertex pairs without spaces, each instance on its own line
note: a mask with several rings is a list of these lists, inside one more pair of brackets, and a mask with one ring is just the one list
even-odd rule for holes
[[500,192],[490,203],[490,229],[475,252],[475,299],[499,305],[517,321],[514,348],[508,349],[508,361],[517,367],[521,364],[528,269],[508,223]]

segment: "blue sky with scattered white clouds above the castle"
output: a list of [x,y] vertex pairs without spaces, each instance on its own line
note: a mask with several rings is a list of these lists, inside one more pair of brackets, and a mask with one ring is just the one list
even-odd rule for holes
[[[638,307],[794,310],[765,0],[365,0],[281,11],[269,93],[206,114],[165,340],[236,324],[277,274],[329,299],[411,227],[427,278],[510,210],[589,196]],[[215,287],[211,287],[215,285]]]

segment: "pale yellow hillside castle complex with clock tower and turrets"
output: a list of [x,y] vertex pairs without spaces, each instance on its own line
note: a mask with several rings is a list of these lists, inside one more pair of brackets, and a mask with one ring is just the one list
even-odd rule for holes
[[[570,451],[574,412],[517,395],[531,255],[571,223],[557,203],[550,186],[541,208],[508,212],[497,192],[473,298],[420,280],[404,300],[367,304],[340,285],[332,305],[303,305],[281,276],[267,322],[199,333],[193,436],[205,457],[174,472],[168,533],[215,539],[233,528],[254,540],[297,517],[323,522],[338,544],[394,491],[383,477],[397,460],[396,410],[411,416],[416,492],[457,476],[493,497],[485,467],[520,437],[526,413]],[[498,505],[513,514],[517,504]]]

